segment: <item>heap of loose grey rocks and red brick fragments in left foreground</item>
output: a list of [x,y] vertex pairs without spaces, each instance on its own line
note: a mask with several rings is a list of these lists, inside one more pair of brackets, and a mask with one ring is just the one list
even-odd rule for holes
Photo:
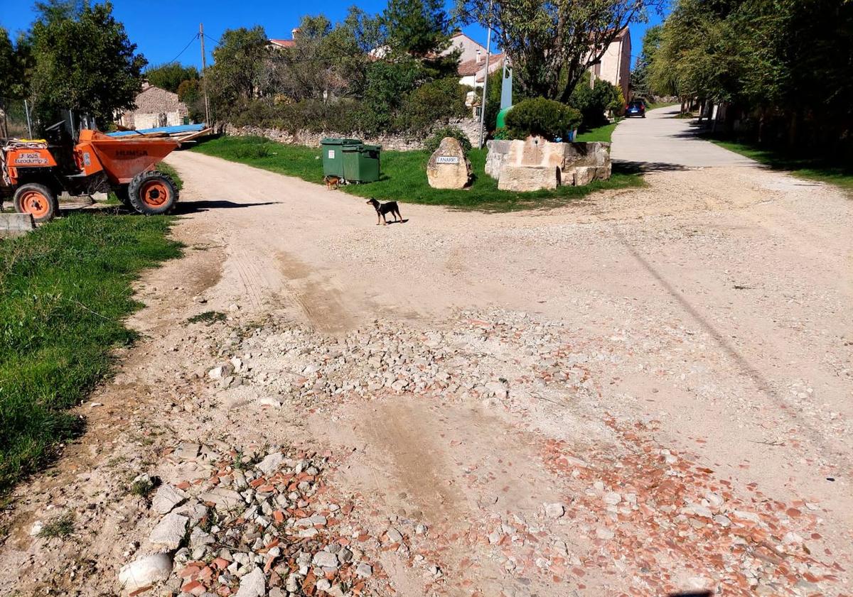
[[353,505],[324,498],[328,456],[183,442],[170,460],[189,479],[160,485],[151,499],[161,518],[146,550],[156,553],[119,572],[131,596],[165,581],[183,597],[345,597],[374,577],[355,547],[368,537],[341,524]]

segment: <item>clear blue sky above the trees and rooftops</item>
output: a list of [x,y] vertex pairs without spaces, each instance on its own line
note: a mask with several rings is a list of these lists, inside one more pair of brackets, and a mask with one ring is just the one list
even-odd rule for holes
[[[293,2],[292,0],[113,0],[116,18],[125,23],[131,41],[139,47],[151,64],[160,64],[179,55],[184,64],[200,66],[200,48],[195,40],[187,46],[199,30],[199,21],[205,24],[208,55],[212,39],[218,39],[225,29],[240,26],[262,25],[270,37],[290,37],[293,27],[304,14],[322,12],[329,19],[342,19],[347,7],[353,3],[369,13],[385,8],[386,0],[325,0],[325,2]],[[13,35],[25,31],[32,23],[32,2],[22,0],[0,0],[0,26]],[[448,3],[450,6],[450,3]],[[160,16],[167,15],[167,16]],[[650,15],[650,24],[660,21],[658,15]],[[631,49],[634,58],[640,53],[642,34],[646,24],[630,27]],[[464,31],[485,45],[485,31],[478,26],[466,27]],[[208,56],[208,60],[210,57]]]

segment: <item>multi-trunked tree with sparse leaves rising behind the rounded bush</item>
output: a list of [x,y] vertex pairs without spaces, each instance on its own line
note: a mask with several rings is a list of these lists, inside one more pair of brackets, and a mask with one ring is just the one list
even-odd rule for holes
[[663,5],[664,0],[457,0],[465,22],[493,28],[526,96],[563,102],[624,27]]

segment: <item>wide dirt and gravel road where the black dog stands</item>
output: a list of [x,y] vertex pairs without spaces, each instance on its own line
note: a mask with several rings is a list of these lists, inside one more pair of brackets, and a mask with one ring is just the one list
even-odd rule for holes
[[[327,455],[337,541],[373,572],[292,572],[316,594],[323,573],[330,594],[850,594],[843,193],[669,164],[558,210],[376,227],[342,192],[170,162],[187,256],[140,285],[147,340],[81,407],[90,432],[18,492],[3,586],[118,590],[160,519],[129,479],[189,479],[197,442]],[[228,320],[187,323],[208,311]],[[66,510],[73,542],[30,537]]]

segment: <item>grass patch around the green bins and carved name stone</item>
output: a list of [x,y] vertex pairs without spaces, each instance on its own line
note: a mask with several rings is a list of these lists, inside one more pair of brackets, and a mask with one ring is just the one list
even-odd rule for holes
[[[220,137],[200,143],[194,152],[229,159],[241,164],[296,176],[305,181],[322,183],[322,160],[319,147],[293,146],[260,137]],[[433,189],[427,183],[427,152],[382,152],[380,181],[363,185],[346,185],[344,192],[359,197],[375,197],[414,204],[448,205],[467,210],[525,210],[554,207],[583,198],[603,189],[639,187],[641,175],[614,169],[609,181],[595,181],[586,187],[559,187],[555,191],[508,192],[497,188],[497,181],[485,175],[486,150],[470,153],[475,174],[467,189]]]

